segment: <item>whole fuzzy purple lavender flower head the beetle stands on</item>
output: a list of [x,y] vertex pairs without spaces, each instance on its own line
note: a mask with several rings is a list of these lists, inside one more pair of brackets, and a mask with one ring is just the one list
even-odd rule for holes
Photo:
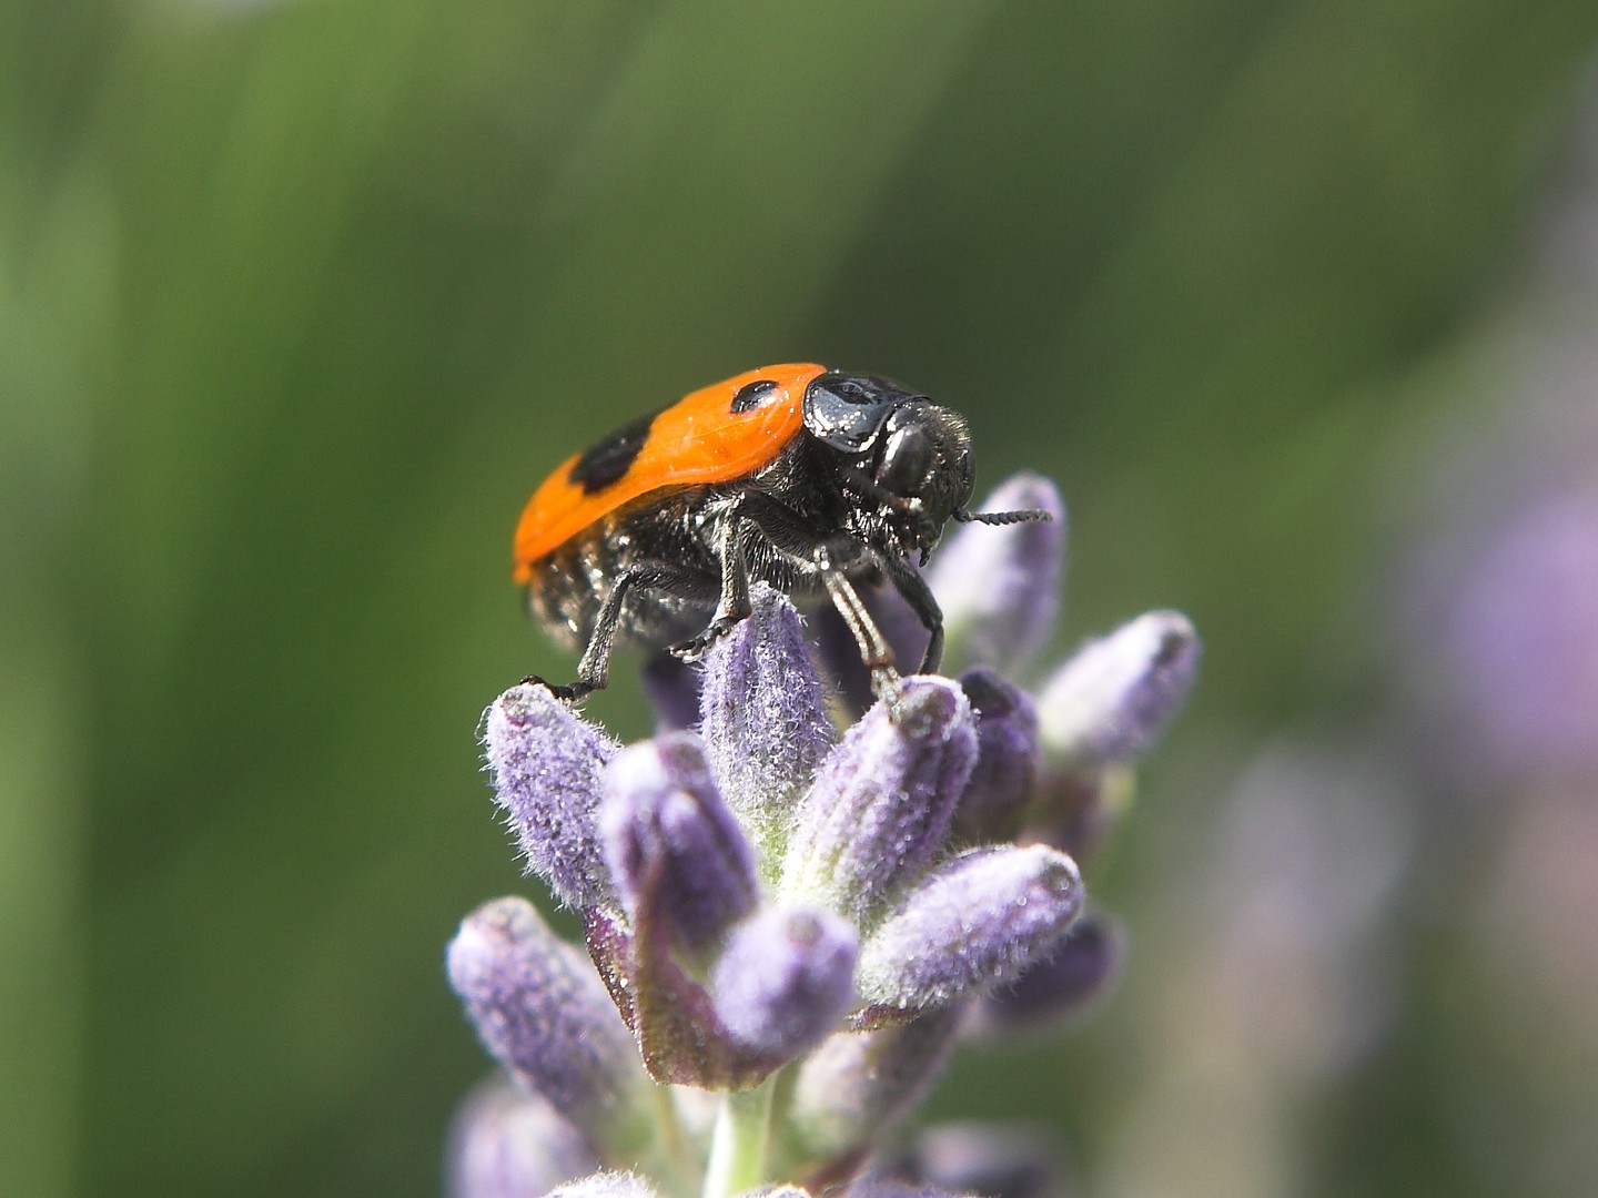
[[[989,503],[1063,516],[1032,476]],[[1197,639],[1154,613],[1036,671],[1063,535],[951,538],[930,581],[965,672],[906,677],[892,709],[850,706],[858,660],[813,650],[769,588],[702,676],[652,668],[658,740],[618,749],[535,685],[489,708],[495,799],[591,968],[521,899],[462,925],[451,981],[519,1094],[462,1113],[459,1198],[1051,1192],[1047,1153],[1007,1166],[997,1131],[986,1153],[884,1153],[964,1030],[1079,1010],[1120,957],[1071,853],[1186,696]]]

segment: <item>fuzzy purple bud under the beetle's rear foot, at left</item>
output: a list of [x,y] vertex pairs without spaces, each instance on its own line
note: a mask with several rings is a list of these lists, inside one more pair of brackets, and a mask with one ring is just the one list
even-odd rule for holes
[[615,741],[548,688],[511,687],[484,716],[494,799],[505,808],[529,869],[574,907],[610,898],[599,859],[599,773]]

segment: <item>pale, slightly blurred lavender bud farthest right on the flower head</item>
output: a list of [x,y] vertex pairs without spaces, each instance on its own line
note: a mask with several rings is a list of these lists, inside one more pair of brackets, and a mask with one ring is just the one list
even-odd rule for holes
[[1063,770],[1127,762],[1187,698],[1198,636],[1179,612],[1149,612],[1079,649],[1037,700],[1043,754]]

